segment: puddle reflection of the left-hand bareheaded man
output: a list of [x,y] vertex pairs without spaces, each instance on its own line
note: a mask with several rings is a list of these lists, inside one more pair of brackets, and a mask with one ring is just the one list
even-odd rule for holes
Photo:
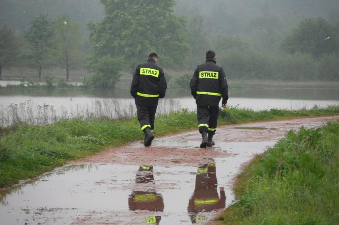
[[[135,188],[128,199],[130,210],[162,212],[164,208],[161,194],[155,190],[153,166],[141,165],[135,178]],[[147,223],[159,224],[161,216],[150,216]]]

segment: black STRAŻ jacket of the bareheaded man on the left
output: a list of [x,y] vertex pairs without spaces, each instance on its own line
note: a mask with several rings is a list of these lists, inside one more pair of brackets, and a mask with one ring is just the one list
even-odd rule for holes
[[153,59],[136,67],[131,85],[131,95],[137,104],[157,104],[159,98],[165,97],[166,89],[167,83],[163,70],[156,65]]

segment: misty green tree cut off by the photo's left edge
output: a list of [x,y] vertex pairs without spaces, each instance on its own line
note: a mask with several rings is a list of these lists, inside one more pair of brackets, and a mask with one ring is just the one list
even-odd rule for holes
[[5,25],[0,29],[0,79],[3,68],[17,59],[19,43],[15,31]]

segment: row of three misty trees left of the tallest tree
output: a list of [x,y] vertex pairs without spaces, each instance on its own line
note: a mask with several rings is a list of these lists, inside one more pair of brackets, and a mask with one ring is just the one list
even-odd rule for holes
[[80,26],[66,14],[55,21],[48,15],[35,17],[23,36],[16,36],[5,25],[0,30],[0,40],[0,77],[4,67],[22,64],[34,69],[39,79],[43,69],[61,67],[68,80],[69,72],[81,66]]

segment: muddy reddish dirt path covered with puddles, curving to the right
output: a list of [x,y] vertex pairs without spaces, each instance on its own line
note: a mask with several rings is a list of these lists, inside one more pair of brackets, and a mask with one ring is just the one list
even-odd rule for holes
[[198,131],[107,149],[0,191],[2,224],[206,223],[234,200],[241,165],[290,130],[339,117],[223,126],[199,149]]

